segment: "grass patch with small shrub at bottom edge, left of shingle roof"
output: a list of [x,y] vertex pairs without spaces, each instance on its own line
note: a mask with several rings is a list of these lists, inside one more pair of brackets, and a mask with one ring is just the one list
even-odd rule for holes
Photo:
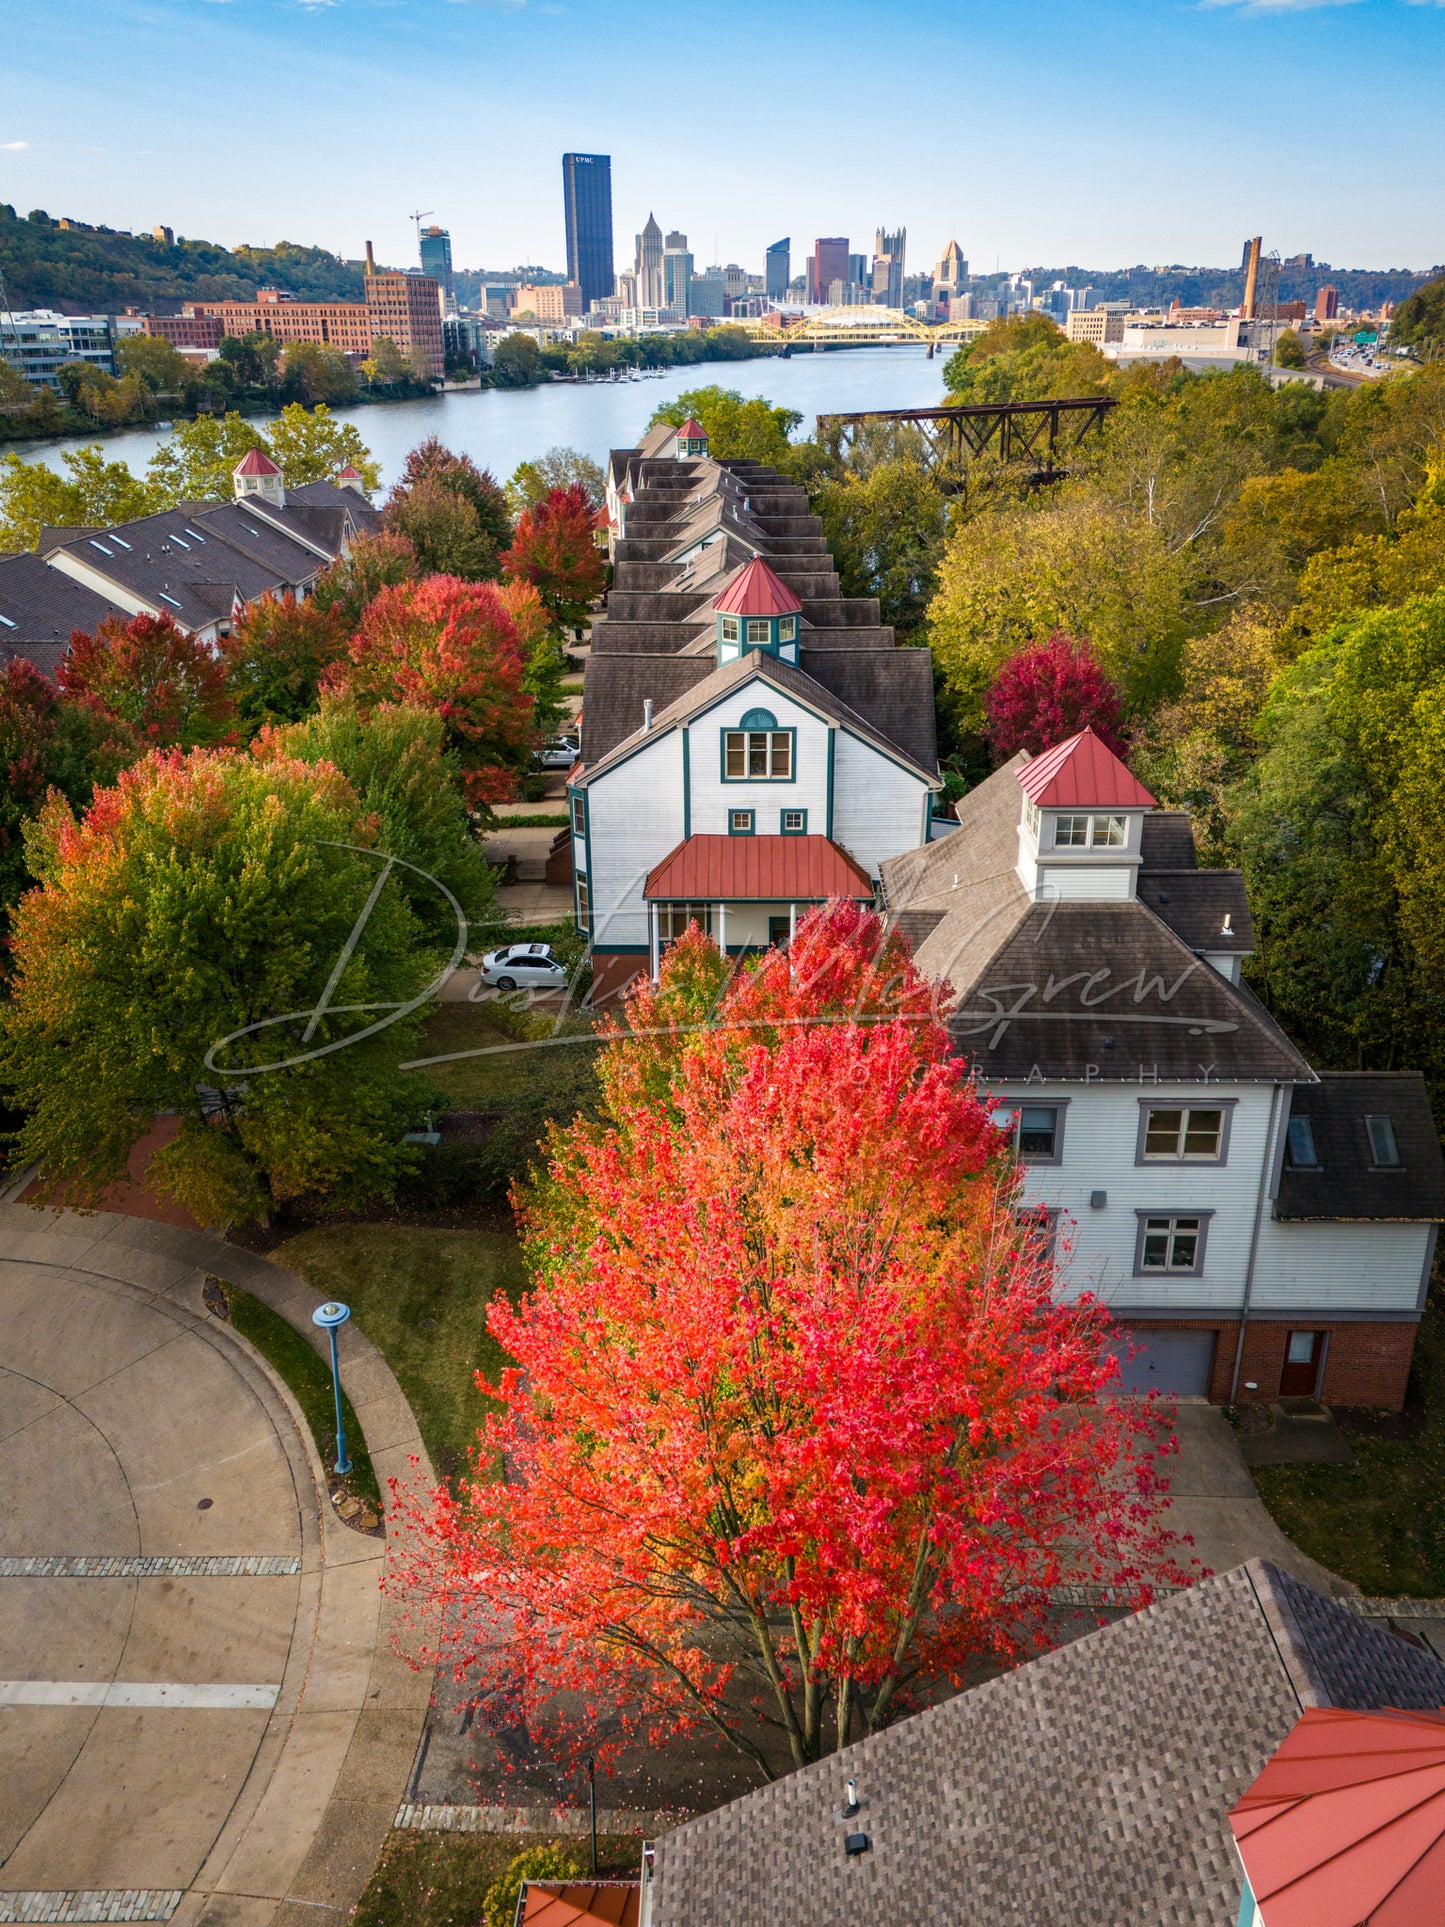
[[[351,1927],[478,1927],[487,1888],[511,1861],[532,1846],[565,1846],[582,1867],[591,1844],[584,1838],[545,1842],[538,1835],[507,1833],[412,1833],[387,1835]],[[642,1840],[597,1840],[599,1873],[636,1875]]]

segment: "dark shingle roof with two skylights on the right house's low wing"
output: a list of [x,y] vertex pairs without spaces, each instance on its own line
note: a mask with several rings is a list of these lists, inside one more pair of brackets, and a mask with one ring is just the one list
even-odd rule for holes
[[[1279,1174],[1275,1218],[1445,1220],[1445,1158],[1418,1071],[1320,1071],[1297,1089],[1291,1118],[1308,1118],[1318,1170]],[[1366,1118],[1389,1118],[1401,1162],[1379,1170]]]

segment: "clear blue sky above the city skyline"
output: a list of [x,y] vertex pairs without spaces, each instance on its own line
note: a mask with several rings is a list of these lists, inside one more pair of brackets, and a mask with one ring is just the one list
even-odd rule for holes
[[563,264],[561,154],[694,252],[1445,260],[1445,0],[0,0],[0,200]]

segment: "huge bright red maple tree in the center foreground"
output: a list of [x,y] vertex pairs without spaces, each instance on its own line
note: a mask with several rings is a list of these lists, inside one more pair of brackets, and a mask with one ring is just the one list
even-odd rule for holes
[[1108,1318],[1056,1303],[931,987],[842,906],[726,971],[672,946],[555,1133],[489,1312],[516,1364],[391,1584],[484,1719],[773,1777],[1046,1644],[1062,1582],[1181,1572],[1158,1416],[1096,1403]]

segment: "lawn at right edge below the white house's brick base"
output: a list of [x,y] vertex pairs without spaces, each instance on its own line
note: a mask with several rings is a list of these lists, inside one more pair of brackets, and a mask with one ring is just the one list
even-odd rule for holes
[[1351,1432],[1356,1465],[1254,1466],[1274,1518],[1320,1565],[1368,1594],[1445,1596],[1445,1308],[1432,1297],[1414,1349],[1416,1438]]

